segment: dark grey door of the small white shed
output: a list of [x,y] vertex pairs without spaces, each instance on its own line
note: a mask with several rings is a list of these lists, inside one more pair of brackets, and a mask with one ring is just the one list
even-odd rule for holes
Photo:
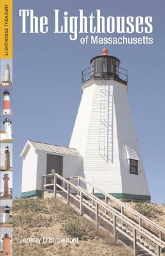
[[[57,173],[62,176],[63,169],[63,157],[47,154],[47,174]],[[54,183],[53,178],[47,178],[47,184]],[[57,183],[62,186],[62,181],[57,179]],[[54,189],[53,186],[47,187],[48,189]],[[57,188],[58,189],[58,188]]]

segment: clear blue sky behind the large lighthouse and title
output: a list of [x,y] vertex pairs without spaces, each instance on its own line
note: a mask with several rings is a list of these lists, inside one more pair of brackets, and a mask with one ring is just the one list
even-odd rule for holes
[[[39,4],[38,4],[39,3]],[[13,33],[13,181],[20,196],[22,159],[27,139],[68,146],[82,96],[81,72],[108,47],[128,70],[128,100],[140,144],[152,202],[165,202],[165,88],[163,0],[34,1],[16,0]],[[19,9],[49,17],[46,34],[22,34]],[[152,16],[152,45],[82,45],[68,34],[52,33],[54,9],[86,15],[100,9],[104,16]],[[62,22],[62,20],[61,20]],[[102,35],[111,36],[111,35]],[[133,35],[132,35],[133,36]],[[79,37],[80,38],[80,37]]]

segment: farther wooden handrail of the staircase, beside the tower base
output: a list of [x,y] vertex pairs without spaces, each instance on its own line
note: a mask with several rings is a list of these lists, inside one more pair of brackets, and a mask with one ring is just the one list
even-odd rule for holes
[[157,223],[155,223],[154,221],[148,219],[146,216],[140,214],[140,212],[134,210],[133,208],[127,206],[126,204],[124,204],[123,202],[121,202],[120,200],[118,200],[117,198],[115,198],[114,196],[104,192],[102,189],[98,188],[97,186],[94,186],[93,184],[91,184],[89,181],[83,179],[80,176],[75,176],[75,177],[69,177],[69,180],[71,179],[80,179],[82,180],[84,183],[89,184],[92,188],[96,189],[97,191],[100,191],[104,196],[107,196],[108,198],[110,198],[111,200],[113,200],[114,202],[116,202],[117,204],[119,204],[120,206],[124,207],[125,209],[127,209],[128,211],[131,211],[133,214],[136,214],[136,216],[140,217],[142,220],[147,221],[149,224],[152,224],[155,228],[158,228],[159,231],[164,232],[165,233],[165,229],[162,228],[161,226],[159,226]]

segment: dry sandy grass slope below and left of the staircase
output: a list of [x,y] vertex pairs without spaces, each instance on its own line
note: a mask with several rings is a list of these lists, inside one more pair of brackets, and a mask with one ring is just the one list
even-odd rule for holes
[[[79,237],[71,243],[19,243],[21,237]],[[30,253],[30,254],[29,254]],[[13,202],[13,256],[131,256],[60,199],[18,199]]]

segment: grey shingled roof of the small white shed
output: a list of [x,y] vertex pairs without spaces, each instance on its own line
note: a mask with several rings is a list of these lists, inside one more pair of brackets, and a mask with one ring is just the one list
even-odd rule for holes
[[32,140],[28,140],[28,141],[37,150],[43,150],[43,151],[62,154],[62,155],[82,157],[82,155],[78,152],[78,150],[76,150],[76,148],[62,147],[62,146],[52,145],[52,144],[43,143],[39,141],[32,141]]

